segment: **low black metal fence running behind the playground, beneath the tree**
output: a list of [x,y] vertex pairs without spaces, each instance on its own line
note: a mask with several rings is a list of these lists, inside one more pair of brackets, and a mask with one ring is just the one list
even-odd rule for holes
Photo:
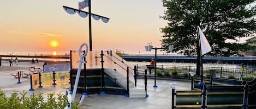
[[[140,70],[147,69],[146,65],[134,65],[138,68],[138,76],[144,76],[144,72]],[[157,65],[157,78],[176,78],[176,79],[190,79],[188,72],[196,72],[196,66],[166,66]],[[148,78],[154,78],[154,69],[148,74]],[[209,78],[215,76],[218,78],[229,78],[238,80],[241,75],[241,68],[227,68],[227,67],[203,67],[204,77]],[[195,76],[197,77],[197,75]],[[256,78],[255,68],[243,69],[243,80],[253,80]]]

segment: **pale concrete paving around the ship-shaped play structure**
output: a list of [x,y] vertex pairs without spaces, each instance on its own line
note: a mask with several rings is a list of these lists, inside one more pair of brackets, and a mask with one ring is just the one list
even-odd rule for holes
[[[6,69],[9,63],[3,62],[3,67],[0,67],[0,89],[10,97],[10,94],[13,91],[27,92],[27,95],[31,95],[32,93],[44,93],[45,97],[47,93],[63,93],[68,89],[62,87],[43,87],[35,89],[35,91],[28,91],[30,88],[30,79],[21,78],[22,84],[16,84],[17,79],[10,75],[10,73],[14,73],[15,68],[10,68],[10,70]],[[19,67],[28,68],[31,63],[19,63]],[[13,66],[13,67],[18,67]],[[43,63],[39,63],[37,66],[43,66]],[[5,68],[4,68],[5,67]],[[20,68],[19,68],[20,69]],[[182,90],[190,90],[190,82],[183,81],[172,81],[172,80],[157,80],[158,88],[153,88],[154,80],[148,80],[147,85],[147,93],[149,95],[148,98],[127,98],[124,95],[99,95],[99,94],[91,94],[88,95],[84,102],[82,102],[82,108],[86,109],[115,109],[115,108],[123,108],[123,109],[169,109],[171,108],[171,82],[177,82],[175,89],[176,91]],[[144,88],[144,80],[138,80],[138,86]],[[79,100],[81,94],[77,94],[76,101]],[[69,95],[69,99],[71,96]]]

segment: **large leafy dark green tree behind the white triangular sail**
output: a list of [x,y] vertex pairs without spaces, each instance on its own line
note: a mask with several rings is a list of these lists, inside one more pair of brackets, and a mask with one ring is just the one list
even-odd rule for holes
[[[256,0],[162,0],[166,7],[163,18],[168,25],[162,47],[174,45],[172,52],[186,56],[199,54],[197,25],[203,30],[212,52],[207,55],[230,56],[253,49],[249,43],[234,43],[256,31],[256,7],[248,4]],[[199,56],[198,56],[199,59]],[[197,62],[197,64],[201,64]],[[197,70],[198,74],[198,70]]]

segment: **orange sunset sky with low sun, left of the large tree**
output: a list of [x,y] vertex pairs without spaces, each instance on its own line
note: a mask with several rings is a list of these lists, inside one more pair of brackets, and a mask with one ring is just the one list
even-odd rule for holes
[[[70,15],[62,8],[78,9],[80,1],[1,1],[0,52],[69,51],[89,44],[88,17]],[[167,25],[159,18],[164,15],[162,5],[160,0],[92,0],[92,13],[110,18],[108,23],[92,18],[92,50],[145,52],[150,42],[161,47],[160,28]],[[56,47],[52,41],[57,41]]]

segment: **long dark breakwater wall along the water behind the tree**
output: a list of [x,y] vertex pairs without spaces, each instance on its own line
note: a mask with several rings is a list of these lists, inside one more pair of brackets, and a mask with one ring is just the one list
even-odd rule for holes
[[[154,55],[122,55],[122,58],[126,61],[148,61],[150,62]],[[184,62],[195,63],[197,62],[197,56],[171,56],[171,55],[158,55],[157,62]],[[241,64],[255,65],[256,56],[240,56],[240,57],[213,57],[204,56],[203,63],[229,63],[229,64]]]

